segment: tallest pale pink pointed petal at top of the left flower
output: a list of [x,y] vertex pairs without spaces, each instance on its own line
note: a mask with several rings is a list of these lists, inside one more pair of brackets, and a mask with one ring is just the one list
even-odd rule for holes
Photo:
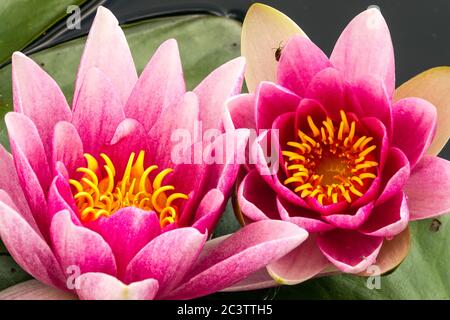
[[84,79],[92,68],[100,69],[111,80],[120,104],[125,105],[137,81],[136,68],[119,22],[111,11],[102,6],[97,9],[81,57],[75,83],[75,105]]

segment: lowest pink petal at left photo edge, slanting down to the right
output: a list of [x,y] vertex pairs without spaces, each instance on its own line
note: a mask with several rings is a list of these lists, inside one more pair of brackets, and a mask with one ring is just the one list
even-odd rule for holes
[[64,275],[45,240],[15,210],[0,201],[0,237],[14,260],[33,277],[64,289]]

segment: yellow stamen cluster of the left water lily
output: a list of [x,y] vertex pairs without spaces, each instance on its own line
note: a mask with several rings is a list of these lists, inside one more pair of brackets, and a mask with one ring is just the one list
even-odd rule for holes
[[135,161],[135,153],[131,153],[121,179],[116,177],[116,168],[111,159],[104,153],[103,170],[97,159],[90,154],[84,155],[87,168],[76,171],[82,174],[79,180],[71,179],[74,187],[74,199],[82,221],[94,221],[99,217],[110,217],[119,209],[136,207],[145,211],[155,211],[159,215],[161,227],[165,227],[178,218],[178,207],[173,203],[177,199],[187,200],[183,193],[173,192],[174,186],[164,185],[163,179],[173,170],[164,169],[150,179],[149,176],[157,166],[144,169],[144,151],[140,151]]

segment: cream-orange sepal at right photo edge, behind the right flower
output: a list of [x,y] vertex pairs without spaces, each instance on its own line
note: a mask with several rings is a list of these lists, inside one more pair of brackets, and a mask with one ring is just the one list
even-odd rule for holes
[[436,137],[427,153],[437,155],[450,136],[450,67],[429,69],[402,84],[395,91],[394,99],[398,101],[407,97],[425,99],[436,107]]

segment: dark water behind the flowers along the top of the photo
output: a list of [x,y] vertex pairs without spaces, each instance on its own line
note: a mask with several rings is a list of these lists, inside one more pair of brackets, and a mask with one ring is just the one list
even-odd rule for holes
[[[129,23],[155,16],[208,12],[242,20],[254,1],[98,0],[82,6],[81,30],[66,30],[65,21],[33,44],[40,50],[87,33],[95,8],[102,4],[119,21]],[[264,1],[290,16],[326,53],[345,25],[370,5],[380,7],[395,47],[397,84],[434,66],[450,65],[450,0],[278,0]],[[450,147],[444,151],[450,158]]]

